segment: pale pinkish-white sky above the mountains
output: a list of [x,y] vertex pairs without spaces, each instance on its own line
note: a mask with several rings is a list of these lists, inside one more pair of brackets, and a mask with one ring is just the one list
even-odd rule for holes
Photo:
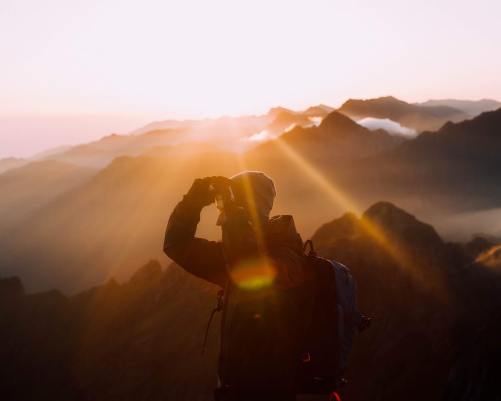
[[501,101],[498,0],[0,0],[0,158],[153,121]]

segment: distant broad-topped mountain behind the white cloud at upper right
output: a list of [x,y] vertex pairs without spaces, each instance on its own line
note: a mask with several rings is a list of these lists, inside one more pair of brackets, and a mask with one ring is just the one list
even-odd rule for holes
[[346,101],[339,109],[354,120],[365,117],[389,118],[418,132],[439,129],[447,121],[458,122],[471,115],[447,106],[420,107],[394,97]]

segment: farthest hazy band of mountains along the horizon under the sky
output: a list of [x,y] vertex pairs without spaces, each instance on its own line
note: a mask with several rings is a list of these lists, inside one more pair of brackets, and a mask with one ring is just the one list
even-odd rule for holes
[[[348,100],[338,111],[358,121],[364,118],[388,120],[400,123],[404,129],[416,132],[439,129],[447,121],[461,121],[481,112],[501,107],[494,100],[430,101],[422,105],[408,104],[393,97],[370,100]],[[452,107],[454,105],[456,107]],[[81,166],[103,168],[118,156],[139,156],[148,154],[155,147],[156,154],[167,157],[176,153],[196,153],[190,147],[192,142],[210,143],[219,150],[239,153],[256,145],[275,139],[295,126],[318,125],[320,120],[335,111],[332,107],[318,105],[304,111],[292,111],[283,107],[272,108],[266,115],[221,117],[205,120],[166,120],[148,124],[130,135],[104,137],[99,141],[48,149],[29,159],[6,158],[0,160],[0,172],[19,167],[34,160],[56,160]],[[384,121],[372,125],[384,127]],[[177,145],[188,144],[188,148]],[[172,149],[169,146],[176,146]],[[162,148],[163,147],[163,148]],[[163,152],[163,153],[162,153]]]

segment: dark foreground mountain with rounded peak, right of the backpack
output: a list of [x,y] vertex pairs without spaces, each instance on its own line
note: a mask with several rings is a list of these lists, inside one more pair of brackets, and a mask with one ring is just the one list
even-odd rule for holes
[[374,318],[355,339],[343,398],[496,399],[501,275],[388,203],[326,224],[313,241],[350,268],[358,308]]

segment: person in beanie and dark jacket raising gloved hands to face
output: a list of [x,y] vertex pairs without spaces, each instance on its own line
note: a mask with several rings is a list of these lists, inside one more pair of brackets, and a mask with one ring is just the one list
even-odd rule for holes
[[[292,216],[270,218],[275,196],[260,171],[197,178],[167,224],[167,256],[224,289],[216,400],[296,399],[309,273]],[[201,210],[214,202],[220,242],[195,237]]]

